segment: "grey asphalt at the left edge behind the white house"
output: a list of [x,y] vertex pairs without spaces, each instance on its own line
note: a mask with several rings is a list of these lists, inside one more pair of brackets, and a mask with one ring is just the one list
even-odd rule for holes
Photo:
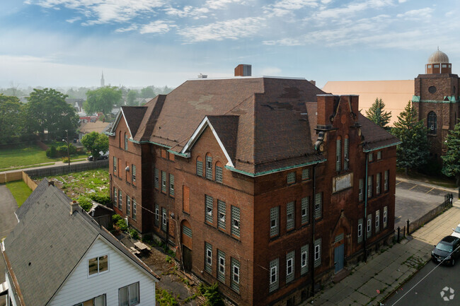
[[[8,236],[18,223],[14,212],[18,209],[18,204],[13,195],[4,184],[0,185],[0,240]],[[5,281],[5,264],[3,258],[0,259],[0,283]],[[0,297],[0,306],[6,305],[4,297]]]

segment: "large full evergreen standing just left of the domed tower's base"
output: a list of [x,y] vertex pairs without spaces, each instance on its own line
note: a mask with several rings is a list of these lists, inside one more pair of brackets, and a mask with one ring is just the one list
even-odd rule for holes
[[396,147],[396,165],[406,170],[420,167],[427,163],[428,137],[423,120],[418,120],[417,110],[411,102],[398,116],[391,133],[402,142]]

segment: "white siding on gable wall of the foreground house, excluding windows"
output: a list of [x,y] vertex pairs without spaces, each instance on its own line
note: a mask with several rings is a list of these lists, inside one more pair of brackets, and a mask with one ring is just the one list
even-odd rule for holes
[[[88,259],[108,254],[109,271],[88,278]],[[155,305],[155,283],[142,268],[102,238],[96,240],[86,252],[76,269],[72,271],[62,288],[48,305],[76,305],[99,295],[106,295],[107,305],[118,305],[118,289],[139,282],[139,306]]]

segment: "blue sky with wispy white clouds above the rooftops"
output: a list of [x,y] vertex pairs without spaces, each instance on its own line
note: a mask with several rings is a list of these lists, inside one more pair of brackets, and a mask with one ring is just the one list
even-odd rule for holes
[[[176,87],[200,73],[407,80],[460,73],[460,0],[1,0],[0,88]],[[457,66],[458,65],[458,66]]]

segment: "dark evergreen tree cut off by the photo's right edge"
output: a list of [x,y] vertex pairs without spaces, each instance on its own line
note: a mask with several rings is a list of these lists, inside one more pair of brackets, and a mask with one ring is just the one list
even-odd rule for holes
[[448,177],[456,178],[460,195],[460,122],[457,122],[454,129],[447,134],[446,146],[446,154],[441,156],[442,173]]

